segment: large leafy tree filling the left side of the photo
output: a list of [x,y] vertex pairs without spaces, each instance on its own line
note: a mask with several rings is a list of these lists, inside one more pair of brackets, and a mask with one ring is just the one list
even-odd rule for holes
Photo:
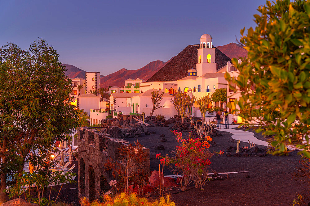
[[58,57],[42,39],[28,50],[12,43],[0,47],[0,203],[7,175],[21,173],[30,152],[34,166],[44,165],[55,141],[78,126],[72,81]]

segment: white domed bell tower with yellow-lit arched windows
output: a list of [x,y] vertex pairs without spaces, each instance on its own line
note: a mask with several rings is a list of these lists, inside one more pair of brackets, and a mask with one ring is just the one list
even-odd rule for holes
[[200,37],[196,69],[199,77],[206,73],[216,73],[215,48],[213,48],[210,34],[203,34]]

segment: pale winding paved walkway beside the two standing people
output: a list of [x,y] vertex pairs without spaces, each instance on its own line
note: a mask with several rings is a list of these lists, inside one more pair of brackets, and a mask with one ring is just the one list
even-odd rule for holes
[[[232,125],[229,125],[232,126]],[[230,132],[232,133],[232,139],[235,140],[240,140],[242,142],[246,142],[249,143],[249,140],[251,143],[255,143],[255,145],[263,145],[263,146],[268,146],[267,142],[262,141],[257,139],[256,137],[254,137],[254,133],[253,132],[248,132],[248,131],[243,131],[243,130],[237,130],[237,129],[223,129],[225,128],[224,125],[221,125],[222,129],[218,129],[219,131],[224,131],[224,132]],[[234,128],[238,128],[238,127],[234,127]]]

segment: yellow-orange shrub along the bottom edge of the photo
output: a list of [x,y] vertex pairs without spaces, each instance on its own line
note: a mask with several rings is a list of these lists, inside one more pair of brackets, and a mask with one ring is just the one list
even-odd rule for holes
[[146,206],[175,206],[174,202],[169,202],[169,195],[166,197],[166,201],[164,197],[161,197],[159,200],[156,201],[148,201],[143,197],[138,197],[134,193],[127,195],[126,193],[122,192],[121,194],[117,195],[115,198],[110,197],[109,195],[104,195],[104,203],[100,203],[94,201],[92,203],[88,202],[86,198],[80,199],[80,203],[82,206],[88,205],[102,205],[102,206],[131,206],[131,205],[146,205]]

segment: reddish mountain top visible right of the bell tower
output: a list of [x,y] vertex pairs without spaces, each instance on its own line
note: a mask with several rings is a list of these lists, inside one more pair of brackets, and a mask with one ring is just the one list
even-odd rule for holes
[[248,51],[246,51],[242,45],[236,44],[236,43],[229,43],[224,46],[218,46],[218,48],[221,52],[226,54],[229,58],[239,58],[239,57],[247,57]]

